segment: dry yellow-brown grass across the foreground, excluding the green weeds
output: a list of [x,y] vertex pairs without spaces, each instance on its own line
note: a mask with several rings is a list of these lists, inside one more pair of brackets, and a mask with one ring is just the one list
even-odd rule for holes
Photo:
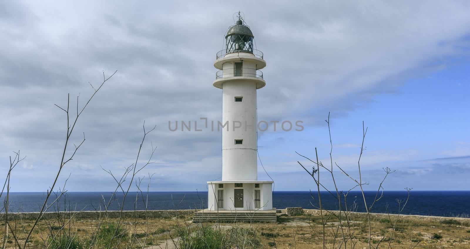
[[[124,229],[128,235],[122,240],[118,248],[127,248],[130,241],[134,240],[132,248],[165,248],[166,241],[169,244],[171,238],[177,238],[177,227],[186,229],[187,225],[191,231],[197,229],[201,224],[191,223],[191,216],[180,216],[178,218],[152,218],[148,220],[148,224],[144,219],[135,221],[125,220]],[[372,238],[373,243],[385,236],[379,248],[388,248],[388,238],[392,232],[392,225],[388,222],[386,215],[372,215]],[[450,220],[450,221],[449,221]],[[115,222],[115,219],[109,219],[107,222]],[[51,221],[52,222],[52,221]],[[32,226],[33,221],[24,221],[25,230]],[[95,220],[76,220],[74,225],[70,228],[77,232],[77,239],[80,244],[86,246],[88,235],[93,231],[97,224]],[[327,244],[335,247],[339,245],[341,239],[333,240],[331,236],[331,229],[337,229],[337,220],[329,219],[326,229]],[[14,225],[14,223],[11,223]],[[52,227],[54,230],[53,222],[47,225],[45,220],[39,222],[38,227],[34,230],[28,243],[31,249],[42,248],[44,238],[47,238],[47,233]],[[135,225],[135,232],[134,231]],[[49,226],[49,227],[48,227]],[[202,226],[214,226],[219,229],[217,224],[209,223],[202,224]],[[322,244],[322,226],[321,217],[316,214],[298,215],[298,216],[278,216],[278,223],[224,223],[221,224],[220,229],[230,229],[232,227],[248,228],[251,226],[255,231],[255,237],[261,242],[261,247],[268,248],[295,248],[295,249],[311,249],[321,248]],[[12,226],[14,227],[14,226]],[[149,227],[148,234],[145,233]],[[355,248],[363,249],[368,247],[368,223],[364,215],[358,215],[354,220],[353,226],[353,240],[357,241]],[[25,235],[21,226],[16,226],[18,240],[24,242]],[[69,229],[69,228],[67,228]],[[442,236],[440,239],[434,238],[434,234]],[[437,237],[440,237],[437,236]],[[416,216],[403,216],[399,219],[397,227],[394,231],[394,239],[392,240],[393,249],[409,249],[415,248],[456,248],[468,249],[470,248],[470,219],[469,218],[437,218],[437,217],[416,217]],[[144,243],[145,239],[145,243]],[[271,242],[271,243],[269,243]],[[273,245],[275,242],[275,246]],[[419,242],[419,243],[418,243]],[[269,245],[271,244],[271,245]],[[349,247],[349,246],[348,246]],[[7,248],[15,248],[15,241],[10,237],[7,241]],[[174,248],[170,245],[168,248]]]

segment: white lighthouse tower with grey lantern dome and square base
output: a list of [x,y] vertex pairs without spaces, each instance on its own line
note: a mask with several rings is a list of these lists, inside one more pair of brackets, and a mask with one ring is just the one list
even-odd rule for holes
[[[217,53],[213,86],[222,89],[222,180],[207,182],[208,210],[273,211],[273,181],[258,181],[256,91],[266,85],[263,53],[243,18],[225,35]],[[223,126],[226,125],[226,126]],[[275,210],[274,210],[275,218]]]

